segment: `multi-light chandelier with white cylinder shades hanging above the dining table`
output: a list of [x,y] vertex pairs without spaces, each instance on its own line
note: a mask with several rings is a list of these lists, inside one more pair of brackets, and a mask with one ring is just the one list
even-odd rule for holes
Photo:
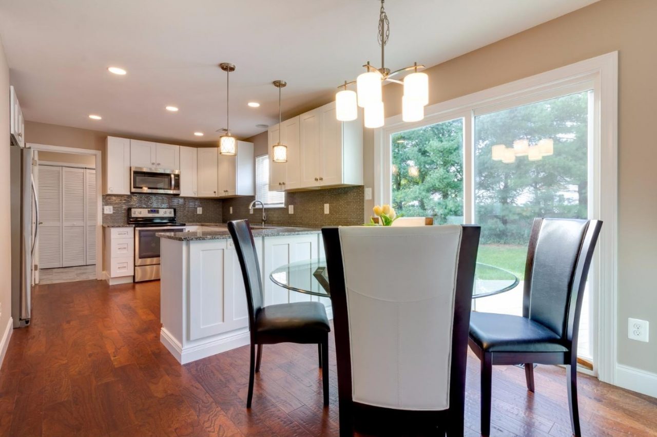
[[[388,37],[390,37],[390,22],[381,0],[381,9],[378,18],[378,45],[381,47],[381,68],[370,65],[369,61],[363,67],[367,72],[361,74],[356,80],[344,82],[338,88],[344,88],[335,95],[336,118],[341,122],[350,122],[358,118],[358,107],[363,108],[365,127],[381,127],[384,124],[384,108],[382,99],[383,81],[399,83],[404,87],[401,98],[401,118],[404,122],[419,122],[424,118],[424,106],[429,103],[429,78],[425,73],[417,70],[424,68],[417,62],[412,66],[390,72],[385,66],[385,50]],[[393,79],[392,76],[412,71],[403,81]],[[352,83],[356,84],[356,91],[347,89]]]

